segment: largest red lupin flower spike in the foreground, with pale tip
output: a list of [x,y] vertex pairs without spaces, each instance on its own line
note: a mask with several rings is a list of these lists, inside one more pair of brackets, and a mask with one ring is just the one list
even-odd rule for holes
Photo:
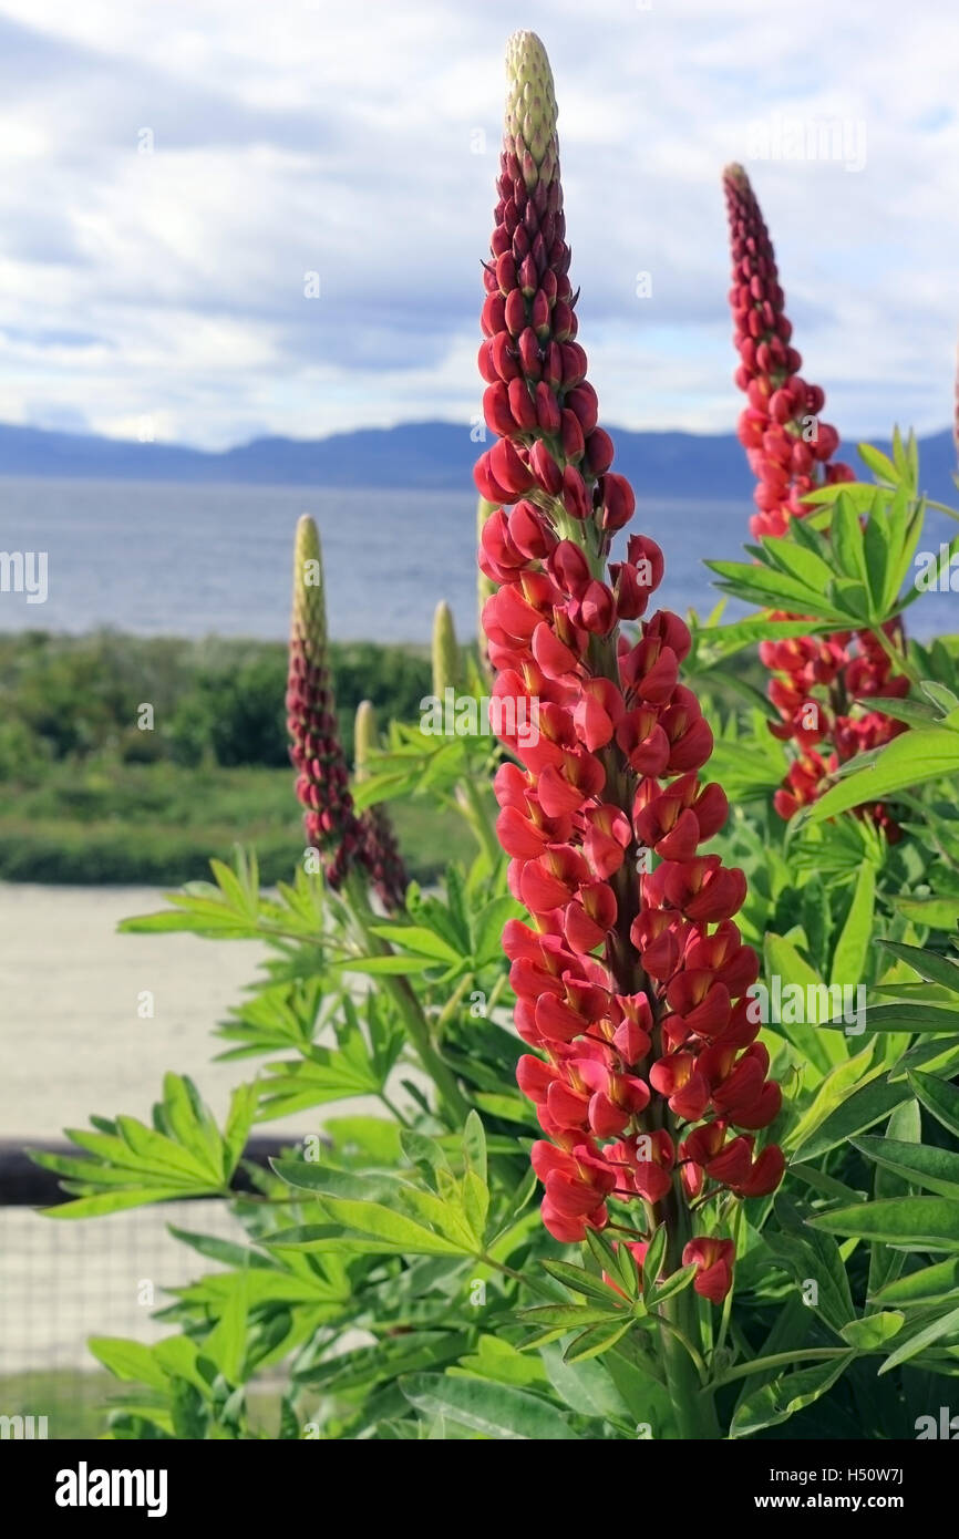
[[[633,534],[608,565],[634,494],[610,471],[574,340],[556,98],[534,34],[513,37],[506,71],[479,356],[499,439],[476,480],[494,503],[479,553],[496,583],[494,694],[514,706],[503,720],[539,723],[536,742],[503,734],[517,763],[496,776],[510,888],[530,916],[503,933],[534,1050],[517,1079],[545,1133],[533,1165],[551,1234],[583,1239],[617,1207],[639,1244],[667,1225],[673,1270],[693,1244],[688,1199],[779,1183],[780,1150],[754,1147],[780,1093],[748,1013],[757,960],[733,920],[745,877],[700,853],[728,805],[697,774],[713,737],[679,682],[690,633],[668,611],[643,619],[663,574],[651,539]],[[623,620],[642,622],[639,640]],[[703,1297],[728,1290],[731,1250],[688,1250]]]

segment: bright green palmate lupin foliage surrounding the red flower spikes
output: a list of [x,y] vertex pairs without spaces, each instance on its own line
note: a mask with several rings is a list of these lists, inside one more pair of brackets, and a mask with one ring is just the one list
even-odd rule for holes
[[[723,1307],[694,1293],[668,1220],[642,1203],[625,1236],[590,1233],[580,1247],[542,1227],[530,1168],[540,1130],[514,1088],[522,1043],[500,948],[520,910],[493,833],[499,751],[425,733],[420,682],[359,802],[439,828],[431,888],[414,882],[385,917],[359,883],[334,894],[296,870],[297,833],[296,874],[276,890],[254,857],[214,860],[212,880],[125,925],[259,939],[266,960],[217,1028],[222,1056],[249,1070],[225,1128],[168,1076],[152,1127],[95,1119],[71,1134],[77,1156],[46,1160],[68,1196],[58,1217],[217,1193],[237,1219],[231,1242],[175,1231],[199,1273],[169,1290],[162,1342],[91,1344],[123,1385],[111,1436],[676,1439],[700,1413],[705,1436],[914,1436],[922,1396],[945,1393],[928,1390],[933,1376],[959,1373],[959,645],[911,645],[913,689],[887,702],[908,731],[791,823],[770,806],[787,751],[747,656],[759,637],[810,629],[770,609],[814,616],[828,636],[879,626],[919,596],[914,443],[896,436],[891,459],[867,448],[864,462],[876,485],[827,488],[750,563],[713,563],[760,616],[722,625],[719,609],[694,625],[691,674],[717,726],[711,773],[733,802],[713,848],[748,877],[737,923],[771,1002],[760,1040],[785,1099],[770,1137],[788,1156],[774,1197],[707,1193],[696,1207],[696,1234],[736,1236]],[[51,646],[25,643],[28,694]],[[356,689],[340,659],[342,700],[388,703],[359,676],[360,653]],[[423,660],[406,662],[413,689]],[[232,693],[197,683],[175,706],[177,753],[208,770],[269,751],[274,665],[234,665]],[[463,691],[482,688],[473,668]],[[103,688],[48,731],[37,708],[40,777],[79,743],[103,746],[115,709]],[[126,773],[160,771],[182,773]],[[95,802],[80,777],[83,796]],[[856,811],[879,796],[894,802],[899,843]],[[251,1171],[252,1191],[232,1190],[248,1130],[289,1114],[316,1131]],[[642,1237],[643,1262],[611,1236]],[[265,1425],[263,1385],[277,1377]]]

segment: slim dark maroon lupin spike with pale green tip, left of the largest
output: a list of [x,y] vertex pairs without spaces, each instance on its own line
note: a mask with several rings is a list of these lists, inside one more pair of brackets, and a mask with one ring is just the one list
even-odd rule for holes
[[297,523],[292,557],[286,726],[306,839],[320,851],[329,885],[340,886],[363,850],[363,831],[353,810],[326,660],[320,537],[306,514]]

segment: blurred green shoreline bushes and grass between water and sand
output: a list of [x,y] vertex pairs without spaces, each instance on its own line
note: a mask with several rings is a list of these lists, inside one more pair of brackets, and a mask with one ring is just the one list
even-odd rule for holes
[[[331,642],[329,659],[349,763],[360,700],[380,733],[420,719],[426,643]],[[733,663],[760,680],[754,662]],[[288,880],[305,836],[285,693],[285,642],[0,634],[0,880],[180,886],[237,843],[256,850],[265,883]],[[454,811],[386,806],[417,882],[468,860]]]

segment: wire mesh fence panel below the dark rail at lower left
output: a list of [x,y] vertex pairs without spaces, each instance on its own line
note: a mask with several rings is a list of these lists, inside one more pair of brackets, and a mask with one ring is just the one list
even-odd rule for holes
[[[265,1163],[274,1151],[257,1140],[246,1153]],[[172,1302],[166,1290],[220,1270],[179,1244],[168,1227],[243,1237],[220,1199],[79,1220],[37,1211],[60,1200],[54,1176],[32,1167],[22,1150],[0,1147],[0,1437],[99,1436],[120,1387],[91,1356],[88,1339],[159,1340],[171,1330],[152,1319]]]

